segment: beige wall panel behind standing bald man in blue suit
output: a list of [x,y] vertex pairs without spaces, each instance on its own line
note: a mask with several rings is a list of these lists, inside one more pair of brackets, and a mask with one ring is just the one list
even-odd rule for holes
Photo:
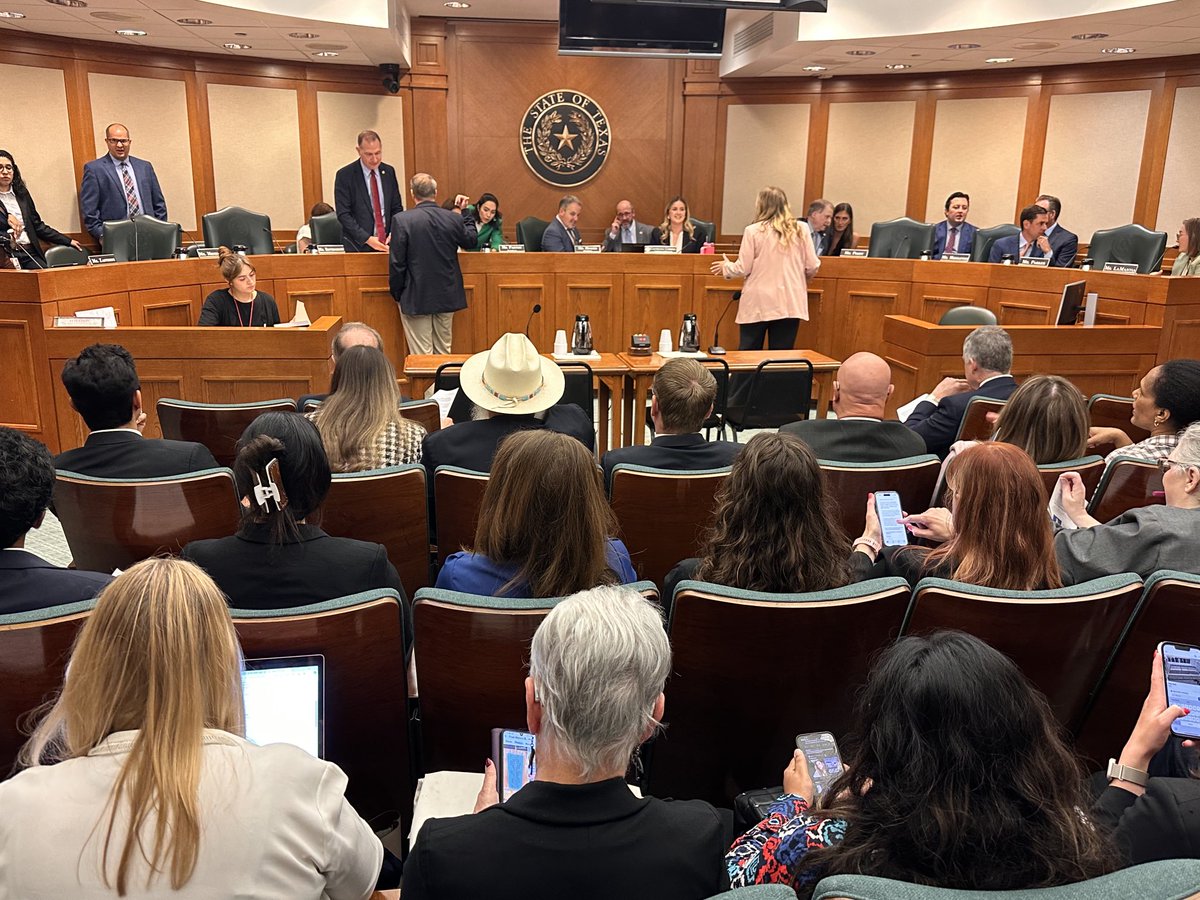
[[187,89],[182,82],[132,76],[88,76],[96,156],[108,152],[104,128],[121,122],[130,130],[132,156],[154,166],[167,200],[167,218],[196,230],[192,146],[187,130]]

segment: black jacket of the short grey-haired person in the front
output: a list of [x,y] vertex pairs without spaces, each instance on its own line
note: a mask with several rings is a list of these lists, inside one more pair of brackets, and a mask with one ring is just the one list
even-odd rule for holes
[[622,779],[532,781],[472,816],[431,818],[404,900],[698,900],[728,888],[721,817],[703,800],[638,799]]

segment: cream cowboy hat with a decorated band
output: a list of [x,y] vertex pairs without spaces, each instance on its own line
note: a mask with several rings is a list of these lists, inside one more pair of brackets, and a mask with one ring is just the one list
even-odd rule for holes
[[563,370],[524,335],[506,334],[462,364],[462,390],[480,409],[506,415],[541,413],[563,397]]

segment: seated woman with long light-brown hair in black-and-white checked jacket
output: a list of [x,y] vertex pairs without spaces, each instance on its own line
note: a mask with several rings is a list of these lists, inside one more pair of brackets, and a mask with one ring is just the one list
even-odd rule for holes
[[320,431],[334,472],[362,472],[421,461],[425,428],[400,414],[396,370],[380,350],[352,347],[337,360],[332,392],[308,418]]

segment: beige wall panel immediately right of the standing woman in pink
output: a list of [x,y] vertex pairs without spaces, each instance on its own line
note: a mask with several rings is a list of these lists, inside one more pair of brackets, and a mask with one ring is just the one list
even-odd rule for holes
[[916,114],[908,100],[829,104],[824,196],[854,208],[854,230],[864,239],[872,222],[905,214]]

